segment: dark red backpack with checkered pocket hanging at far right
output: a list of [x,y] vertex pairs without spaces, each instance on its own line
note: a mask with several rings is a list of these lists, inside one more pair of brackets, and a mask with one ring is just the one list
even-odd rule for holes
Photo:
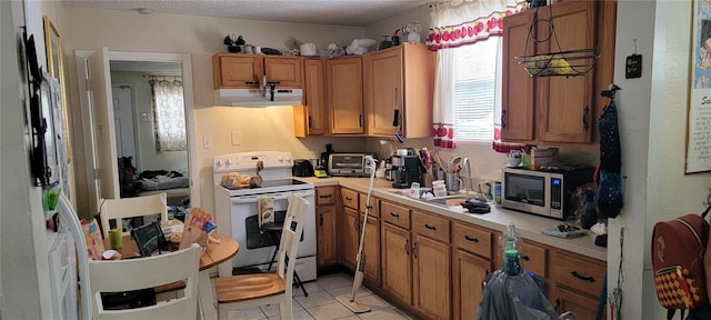
[[654,287],[659,303],[668,309],[667,319],[672,319],[677,309],[681,309],[682,319],[688,309],[691,310],[689,319],[709,319],[692,318],[698,311],[709,310],[704,271],[708,211],[654,224],[651,252]]

